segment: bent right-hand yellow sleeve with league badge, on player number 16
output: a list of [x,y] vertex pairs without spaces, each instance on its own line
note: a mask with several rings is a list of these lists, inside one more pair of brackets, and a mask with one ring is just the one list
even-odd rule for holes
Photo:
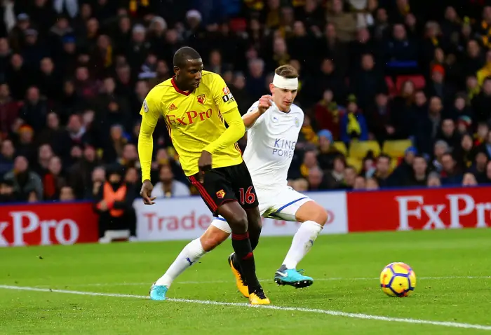
[[229,88],[227,88],[227,84],[221,76],[217,74],[213,76],[210,90],[220,114],[222,114],[224,120],[229,125],[229,128],[227,128],[220,137],[203,149],[213,154],[216,151],[220,151],[233,145],[241,139],[245,133],[245,125],[242,121],[241,113],[238,111],[237,102],[231,95]]

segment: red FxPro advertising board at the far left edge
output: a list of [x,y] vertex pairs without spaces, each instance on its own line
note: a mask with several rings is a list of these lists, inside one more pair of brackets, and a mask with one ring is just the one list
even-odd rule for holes
[[97,242],[91,203],[0,205],[0,247]]

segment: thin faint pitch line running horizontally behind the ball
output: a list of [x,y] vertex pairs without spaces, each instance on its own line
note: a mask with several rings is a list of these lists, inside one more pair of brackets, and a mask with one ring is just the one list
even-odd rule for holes
[[[260,282],[267,282],[269,279],[260,279]],[[314,278],[314,281],[341,281],[341,280],[378,280],[379,278]],[[455,275],[447,277],[418,277],[418,280],[445,280],[445,279],[491,279],[491,275]],[[224,284],[231,283],[234,280],[190,280],[183,282],[175,282],[179,284]],[[67,287],[92,287],[92,286],[138,286],[138,285],[152,285],[151,282],[95,282],[92,284],[72,284],[72,285],[35,285],[34,287],[53,287],[53,286],[67,286]]]

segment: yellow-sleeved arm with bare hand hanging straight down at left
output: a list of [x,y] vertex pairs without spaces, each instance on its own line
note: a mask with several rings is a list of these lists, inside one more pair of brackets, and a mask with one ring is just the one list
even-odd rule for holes
[[138,134],[138,157],[142,167],[142,190],[140,196],[145,205],[153,205],[155,197],[152,198],[152,182],[150,182],[150,170],[152,169],[152,153],[154,151],[154,129],[159,120],[159,111],[153,103],[152,92],[147,95],[143,102],[140,114],[142,115],[142,125]]

